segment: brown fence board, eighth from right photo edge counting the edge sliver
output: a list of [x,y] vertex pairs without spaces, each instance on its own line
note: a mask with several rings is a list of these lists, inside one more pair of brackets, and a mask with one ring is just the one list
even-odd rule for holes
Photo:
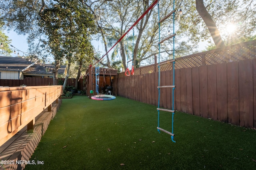
[[187,113],[193,114],[193,97],[192,97],[192,75],[191,68],[186,68],[186,101]]

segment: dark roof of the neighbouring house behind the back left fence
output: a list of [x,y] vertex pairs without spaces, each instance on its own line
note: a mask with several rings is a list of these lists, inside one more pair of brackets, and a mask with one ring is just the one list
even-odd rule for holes
[[[26,69],[25,69],[26,68]],[[27,59],[22,59],[20,57],[6,57],[0,56],[0,70],[5,71],[22,71],[24,74],[34,74],[34,75],[52,75],[52,70],[54,65],[52,64],[37,64]],[[24,70],[25,69],[25,70]],[[61,66],[58,69],[58,74],[64,74],[66,70],[66,65]]]

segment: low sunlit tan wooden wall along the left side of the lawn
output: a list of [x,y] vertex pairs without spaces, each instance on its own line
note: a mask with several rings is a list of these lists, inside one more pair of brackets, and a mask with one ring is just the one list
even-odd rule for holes
[[62,86],[0,88],[0,146],[23,127],[33,129],[35,117],[58,103]]

